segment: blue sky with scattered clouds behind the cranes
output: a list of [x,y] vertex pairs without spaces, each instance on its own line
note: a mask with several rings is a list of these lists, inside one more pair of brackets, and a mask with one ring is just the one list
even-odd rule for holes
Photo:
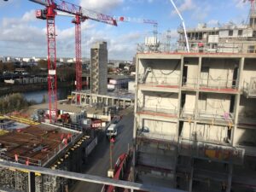
[[[157,20],[159,37],[172,31],[172,42],[177,39],[181,22],[169,0],[67,0],[98,12],[138,19]],[[243,0],[173,0],[181,11],[187,27],[204,22],[208,26],[230,20],[239,24],[247,20],[249,3]],[[43,6],[28,0],[0,0],[0,56],[46,56],[45,20],[37,20],[35,9]],[[74,27],[72,18],[56,17],[57,56],[74,57]],[[88,57],[90,46],[97,40],[108,42],[108,58],[132,60],[137,44],[152,36],[153,26],[127,22],[108,26],[87,20],[82,25],[82,55]]]

